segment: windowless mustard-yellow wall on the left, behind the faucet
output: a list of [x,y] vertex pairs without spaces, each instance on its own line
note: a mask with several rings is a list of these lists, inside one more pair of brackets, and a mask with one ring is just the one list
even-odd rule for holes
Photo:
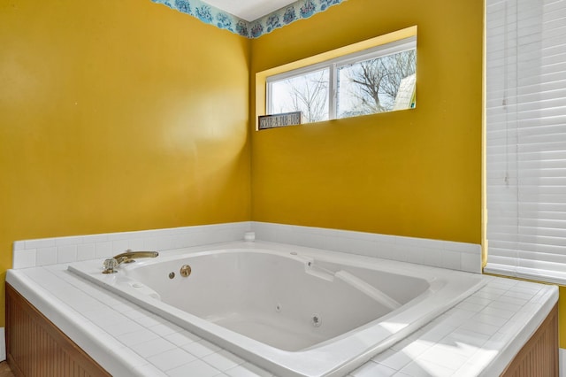
[[149,0],[0,2],[2,296],[16,240],[249,220],[248,109],[245,38]]

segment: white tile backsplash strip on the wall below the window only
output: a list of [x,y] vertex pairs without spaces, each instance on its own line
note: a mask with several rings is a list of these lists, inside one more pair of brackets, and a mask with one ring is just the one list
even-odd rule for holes
[[256,239],[481,273],[481,245],[322,227],[252,222]]

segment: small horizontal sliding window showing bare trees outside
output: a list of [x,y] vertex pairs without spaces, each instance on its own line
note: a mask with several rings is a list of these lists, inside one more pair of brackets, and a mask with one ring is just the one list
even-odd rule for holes
[[312,123],[415,107],[417,38],[267,77],[267,113]]

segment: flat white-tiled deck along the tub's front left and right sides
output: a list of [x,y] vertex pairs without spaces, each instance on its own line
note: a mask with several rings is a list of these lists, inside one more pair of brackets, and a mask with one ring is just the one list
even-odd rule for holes
[[[482,279],[484,288],[348,376],[499,375],[554,306],[558,289]],[[113,375],[272,376],[66,265],[10,270],[6,281]]]

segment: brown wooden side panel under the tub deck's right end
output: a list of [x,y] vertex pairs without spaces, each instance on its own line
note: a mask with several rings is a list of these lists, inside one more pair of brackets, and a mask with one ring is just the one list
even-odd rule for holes
[[558,373],[558,305],[556,304],[501,376],[557,377]]

